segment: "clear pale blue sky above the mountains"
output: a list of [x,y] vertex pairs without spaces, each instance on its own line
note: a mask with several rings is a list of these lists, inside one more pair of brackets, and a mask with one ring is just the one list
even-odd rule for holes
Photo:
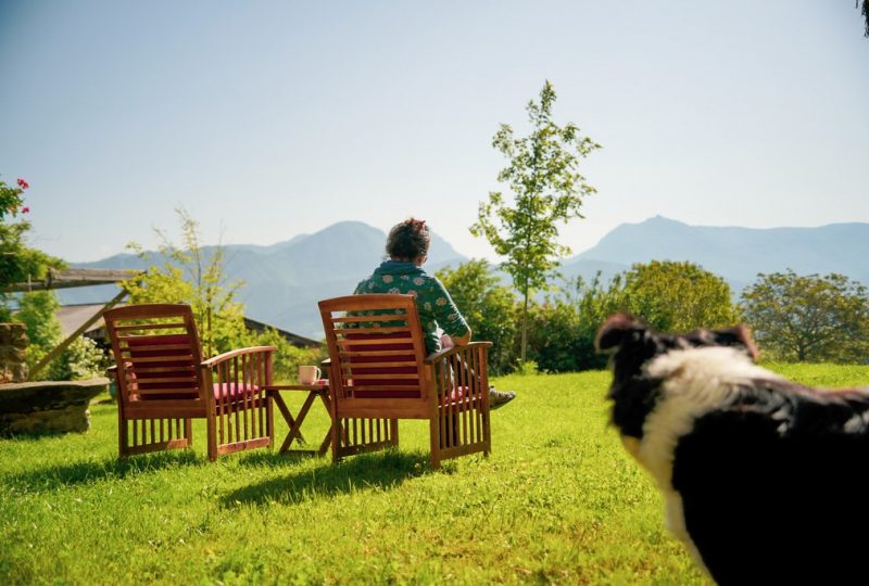
[[575,253],[621,222],[869,221],[869,39],[852,0],[0,1],[0,176],[32,244],[153,246],[424,217],[468,256],[544,79],[603,144]]

